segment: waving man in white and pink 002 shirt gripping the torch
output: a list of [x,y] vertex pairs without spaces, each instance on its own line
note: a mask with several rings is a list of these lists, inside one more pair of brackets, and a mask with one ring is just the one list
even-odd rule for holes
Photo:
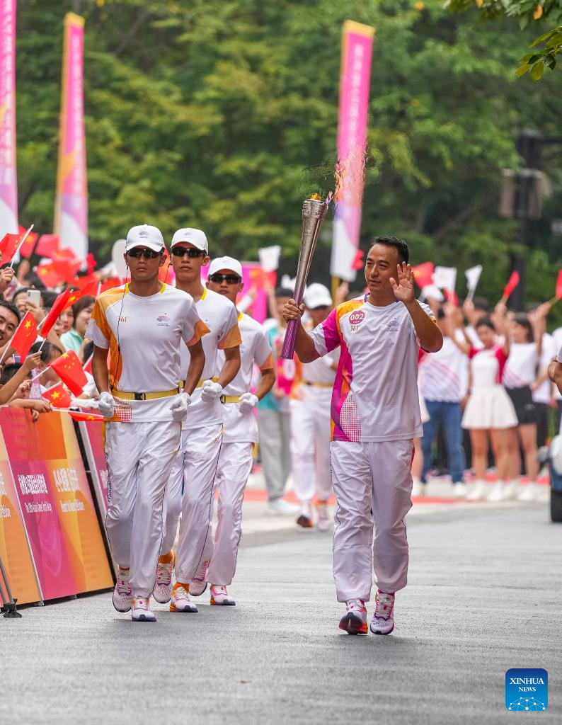
[[[367,632],[373,568],[373,634],[394,629],[394,593],[408,574],[404,518],[412,505],[413,438],[423,434],[418,352],[443,343],[431,310],[414,297],[408,257],[402,239],[377,237],[365,263],[368,294],[338,305],[311,334],[297,327],[302,363],[341,348],[331,402],[334,579],[347,607],[339,628],[349,634]],[[284,318],[298,323],[304,310],[292,300]]]

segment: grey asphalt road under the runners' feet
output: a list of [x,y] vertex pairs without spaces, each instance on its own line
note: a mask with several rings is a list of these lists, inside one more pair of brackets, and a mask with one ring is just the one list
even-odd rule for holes
[[[110,595],[0,618],[2,724],[562,722],[562,526],[545,505],[412,517],[389,637],[337,629],[329,535],[252,536],[231,592],[133,624]],[[371,614],[373,606],[369,607]],[[542,667],[549,706],[505,709],[505,671]]]

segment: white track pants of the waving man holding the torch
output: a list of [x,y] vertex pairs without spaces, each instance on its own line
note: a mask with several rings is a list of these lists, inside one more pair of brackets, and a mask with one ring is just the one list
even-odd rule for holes
[[412,454],[411,440],[331,444],[336,494],[334,580],[339,602],[368,601],[373,568],[383,592],[406,586],[404,518],[412,506]]

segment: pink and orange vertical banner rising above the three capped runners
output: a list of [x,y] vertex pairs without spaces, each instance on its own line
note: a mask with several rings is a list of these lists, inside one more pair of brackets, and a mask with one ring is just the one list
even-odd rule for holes
[[73,249],[80,260],[88,254],[88,189],[84,131],[84,19],[65,16],[62,58],[62,101],[59,126],[59,168],[54,233],[60,247]]

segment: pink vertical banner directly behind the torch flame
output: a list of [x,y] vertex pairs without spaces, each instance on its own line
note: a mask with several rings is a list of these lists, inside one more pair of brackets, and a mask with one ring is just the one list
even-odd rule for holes
[[367,143],[367,111],[375,29],[347,20],[342,32],[339,80],[338,166],[332,243],[332,277],[355,280]]

